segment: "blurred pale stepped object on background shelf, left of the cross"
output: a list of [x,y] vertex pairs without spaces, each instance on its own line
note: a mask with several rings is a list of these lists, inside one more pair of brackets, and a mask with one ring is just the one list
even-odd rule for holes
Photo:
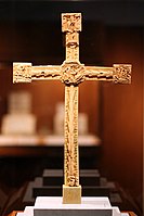
[[10,93],[8,114],[2,117],[1,134],[36,134],[36,116],[31,114],[31,94],[28,91],[13,91]]

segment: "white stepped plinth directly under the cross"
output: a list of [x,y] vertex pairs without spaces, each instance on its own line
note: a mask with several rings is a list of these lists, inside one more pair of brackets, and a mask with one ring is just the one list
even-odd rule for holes
[[81,198],[81,204],[62,204],[62,196],[38,196],[17,216],[129,216],[113,207],[108,198]]

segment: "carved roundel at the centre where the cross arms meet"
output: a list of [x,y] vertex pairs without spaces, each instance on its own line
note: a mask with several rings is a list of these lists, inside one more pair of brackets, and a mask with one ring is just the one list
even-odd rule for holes
[[64,62],[61,69],[61,80],[67,86],[78,86],[84,80],[84,65],[79,62]]

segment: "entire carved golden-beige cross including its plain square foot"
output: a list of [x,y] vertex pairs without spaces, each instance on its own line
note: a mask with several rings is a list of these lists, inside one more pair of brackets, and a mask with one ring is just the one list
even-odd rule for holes
[[84,80],[106,80],[130,84],[131,65],[114,64],[113,67],[84,66],[79,62],[79,31],[81,14],[62,14],[62,31],[66,39],[66,59],[57,66],[32,66],[30,63],[13,64],[13,81],[61,80],[65,85],[65,155],[63,203],[80,203],[78,160],[78,85]]

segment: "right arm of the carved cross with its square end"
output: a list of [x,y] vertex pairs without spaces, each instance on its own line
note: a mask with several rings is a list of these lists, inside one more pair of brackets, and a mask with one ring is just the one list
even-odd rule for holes
[[131,82],[131,65],[114,64],[113,67],[84,66],[86,80],[107,80],[116,84]]

